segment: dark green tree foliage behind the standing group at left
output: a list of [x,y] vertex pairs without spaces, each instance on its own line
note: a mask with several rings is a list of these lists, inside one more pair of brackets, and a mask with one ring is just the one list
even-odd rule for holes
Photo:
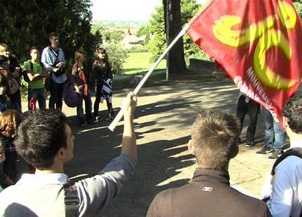
[[7,43],[21,60],[29,58],[33,45],[41,50],[49,45],[48,34],[60,34],[67,66],[74,51],[87,52],[91,65],[93,50],[100,43],[100,33],[91,34],[90,0],[2,0],[0,1],[0,41]]

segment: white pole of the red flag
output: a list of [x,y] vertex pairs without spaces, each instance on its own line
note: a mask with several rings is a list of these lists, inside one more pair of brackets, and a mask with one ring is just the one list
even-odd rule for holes
[[[152,64],[152,66],[150,67],[149,71],[145,74],[145,76],[143,77],[143,79],[140,80],[140,83],[138,83],[138,85],[136,86],[136,89],[133,90],[134,94],[138,94],[138,91],[140,90],[141,87],[143,87],[144,83],[146,82],[147,78],[149,78],[149,76],[152,73],[152,71],[154,71],[154,69],[159,64],[159,62],[162,61],[162,59],[166,56],[166,54],[169,52],[169,50],[178,41],[178,39],[185,34],[185,32],[189,29],[189,27],[190,27],[189,24],[185,25],[185,27],[183,27],[183,29],[181,29],[181,31],[179,32],[179,34],[169,44],[169,46],[166,48],[166,50],[164,50],[164,52],[162,53],[162,55],[160,55],[160,57],[157,59],[157,61],[154,64]],[[119,110],[119,113],[117,113],[117,116],[115,116],[114,120],[112,120],[112,123],[108,127],[109,130],[111,130],[112,132],[114,131],[117,123],[119,123],[119,121],[124,116],[124,108],[123,107],[124,106],[122,105],[121,106],[121,110]]]

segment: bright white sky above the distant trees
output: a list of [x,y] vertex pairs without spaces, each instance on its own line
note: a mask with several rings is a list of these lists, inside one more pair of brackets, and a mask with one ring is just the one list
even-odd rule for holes
[[[147,21],[162,0],[92,0],[93,20]],[[197,0],[201,3],[204,0]]]

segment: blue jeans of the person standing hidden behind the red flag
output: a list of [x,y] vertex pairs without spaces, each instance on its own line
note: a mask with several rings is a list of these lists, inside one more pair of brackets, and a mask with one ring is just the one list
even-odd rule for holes
[[285,132],[275,122],[272,114],[267,109],[263,108],[265,134],[264,144],[274,150],[281,150],[285,146]]

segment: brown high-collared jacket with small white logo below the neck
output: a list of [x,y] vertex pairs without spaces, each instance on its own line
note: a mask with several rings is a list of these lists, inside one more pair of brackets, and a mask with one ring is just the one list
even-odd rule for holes
[[265,202],[230,187],[228,172],[195,170],[192,181],[159,193],[147,216],[271,216]]

